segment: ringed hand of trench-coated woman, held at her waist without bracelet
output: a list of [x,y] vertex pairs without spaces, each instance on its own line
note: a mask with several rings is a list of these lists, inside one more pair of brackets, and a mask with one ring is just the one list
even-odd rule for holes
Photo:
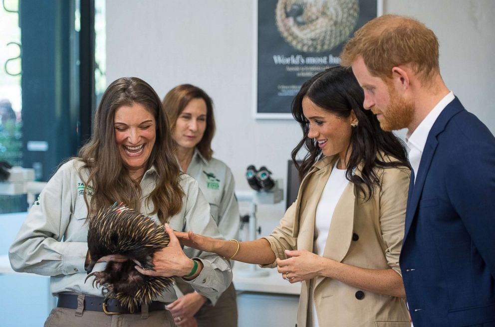
[[290,283],[300,282],[320,275],[325,260],[329,260],[306,250],[285,250],[288,259],[276,259],[277,269],[282,278]]

